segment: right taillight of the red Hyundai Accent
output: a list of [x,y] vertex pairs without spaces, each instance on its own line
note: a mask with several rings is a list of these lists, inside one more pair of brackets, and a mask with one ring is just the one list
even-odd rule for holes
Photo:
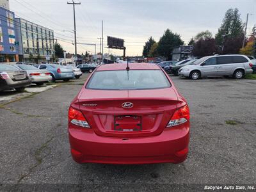
[[189,120],[189,108],[188,105],[177,109],[166,127],[173,127],[188,122]]

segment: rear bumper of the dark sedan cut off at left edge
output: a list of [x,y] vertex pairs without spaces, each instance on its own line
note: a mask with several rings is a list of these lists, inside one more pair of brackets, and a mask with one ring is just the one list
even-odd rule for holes
[[12,90],[13,88],[25,87],[25,86],[29,86],[30,84],[31,84],[30,79],[26,79],[23,81],[12,81],[12,79],[6,79],[6,81],[2,80],[0,82],[0,91]]

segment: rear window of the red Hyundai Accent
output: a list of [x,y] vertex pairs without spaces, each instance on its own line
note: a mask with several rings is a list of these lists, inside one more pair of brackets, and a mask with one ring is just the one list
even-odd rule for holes
[[86,88],[95,90],[146,90],[168,88],[171,84],[162,70],[97,71]]

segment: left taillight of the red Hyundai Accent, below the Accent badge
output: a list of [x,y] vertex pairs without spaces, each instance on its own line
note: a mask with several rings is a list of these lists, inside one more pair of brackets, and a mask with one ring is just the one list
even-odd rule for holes
[[80,127],[90,128],[90,125],[84,118],[83,113],[72,107],[68,109],[68,122]]

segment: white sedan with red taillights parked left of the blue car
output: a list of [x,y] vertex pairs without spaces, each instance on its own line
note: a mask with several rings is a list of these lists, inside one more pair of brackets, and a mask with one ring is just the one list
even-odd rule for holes
[[25,70],[31,79],[31,83],[42,85],[52,81],[51,73],[48,70],[40,70],[32,65],[15,65],[21,70]]

